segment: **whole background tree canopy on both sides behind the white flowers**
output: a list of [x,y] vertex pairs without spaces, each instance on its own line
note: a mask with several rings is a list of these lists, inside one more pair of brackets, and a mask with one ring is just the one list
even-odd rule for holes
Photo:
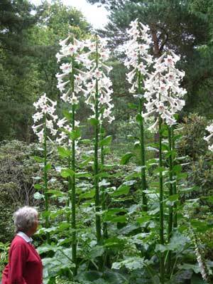
[[[151,28],[152,53],[158,57],[167,48],[180,54],[180,68],[185,70],[183,82],[187,88],[187,102],[182,112],[198,112],[212,118],[213,70],[213,3],[211,0],[87,0],[104,4],[109,23],[98,32],[111,39],[114,53],[114,103],[116,127],[129,120],[133,102],[122,54],[116,51],[126,40],[126,28],[138,18]],[[58,65],[55,53],[58,41],[67,33],[85,38],[92,27],[80,11],[62,4],[62,1],[44,2],[33,6],[28,0],[3,0],[0,4],[0,140],[17,138],[30,142],[32,103],[42,93],[58,98],[55,73]],[[85,110],[87,113],[87,110]],[[84,113],[82,112],[82,117]],[[109,132],[114,132],[111,127]],[[86,134],[87,135],[87,134]]]

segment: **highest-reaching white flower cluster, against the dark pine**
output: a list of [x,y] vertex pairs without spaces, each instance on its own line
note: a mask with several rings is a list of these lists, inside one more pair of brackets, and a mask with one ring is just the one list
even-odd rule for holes
[[149,28],[138,22],[138,19],[131,21],[131,28],[127,33],[131,37],[125,45],[126,61],[124,64],[128,69],[133,68],[126,74],[128,82],[131,84],[130,93],[136,93],[138,89],[138,72],[147,75],[148,66],[153,63],[153,58],[148,54],[151,38],[148,36]]

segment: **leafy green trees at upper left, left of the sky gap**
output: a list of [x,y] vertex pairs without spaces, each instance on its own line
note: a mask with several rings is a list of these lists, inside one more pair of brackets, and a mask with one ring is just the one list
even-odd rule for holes
[[4,0],[0,16],[0,140],[30,142],[33,101],[42,93],[53,99],[59,95],[58,41],[69,32],[85,37],[90,26],[62,1],[35,7],[27,0]]

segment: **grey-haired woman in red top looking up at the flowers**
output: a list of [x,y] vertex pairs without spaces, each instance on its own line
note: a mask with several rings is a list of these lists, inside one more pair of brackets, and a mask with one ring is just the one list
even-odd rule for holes
[[17,234],[11,243],[2,284],[42,284],[42,262],[31,238],[38,227],[38,211],[24,206],[15,212],[14,223]]

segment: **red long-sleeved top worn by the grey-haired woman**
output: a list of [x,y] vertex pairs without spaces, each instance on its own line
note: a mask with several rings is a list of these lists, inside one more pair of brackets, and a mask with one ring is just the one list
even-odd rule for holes
[[42,262],[35,248],[21,236],[13,238],[9,264],[2,273],[2,284],[42,284]]

